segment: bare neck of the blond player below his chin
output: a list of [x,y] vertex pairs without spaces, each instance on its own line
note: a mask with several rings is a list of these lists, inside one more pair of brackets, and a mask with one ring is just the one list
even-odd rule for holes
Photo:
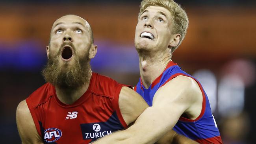
[[161,54],[139,54],[139,71],[141,81],[146,89],[163,72],[171,61],[170,55]]

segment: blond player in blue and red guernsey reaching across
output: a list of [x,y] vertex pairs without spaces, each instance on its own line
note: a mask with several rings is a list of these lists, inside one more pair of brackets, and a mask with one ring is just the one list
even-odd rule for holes
[[[97,142],[104,144],[169,143],[173,129],[201,144],[222,144],[207,94],[200,82],[171,60],[188,27],[186,12],[173,0],[143,0],[135,30],[141,78],[134,90],[148,107],[124,131]],[[96,143],[97,143],[96,142]]]

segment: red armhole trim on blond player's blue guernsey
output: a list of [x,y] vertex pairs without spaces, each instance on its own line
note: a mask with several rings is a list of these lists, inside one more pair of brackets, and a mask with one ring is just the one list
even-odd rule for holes
[[[177,73],[177,74],[174,74],[173,76],[171,76],[167,81],[165,81],[165,83],[163,83],[163,85],[165,85],[166,83],[168,83],[169,81],[171,81],[173,78],[177,77],[177,76],[187,76],[189,78],[192,78],[191,76],[188,76],[186,74],[183,74],[183,73]],[[190,120],[188,118],[184,118],[182,116],[180,116],[180,121],[183,121],[183,122],[195,122],[197,120],[199,120],[200,118],[202,118],[202,116],[204,115],[204,112],[205,112],[205,107],[206,107],[206,98],[205,98],[205,94],[204,94],[204,90],[202,88],[202,85],[199,83],[199,81],[197,81],[197,79],[193,78],[196,82],[197,82],[197,85],[199,86],[201,92],[202,92],[202,96],[203,96],[203,100],[202,100],[202,109],[201,109],[201,112],[199,114],[199,116],[195,119],[195,120]],[[163,86],[161,85],[161,87]],[[160,88],[160,87],[159,87]]]

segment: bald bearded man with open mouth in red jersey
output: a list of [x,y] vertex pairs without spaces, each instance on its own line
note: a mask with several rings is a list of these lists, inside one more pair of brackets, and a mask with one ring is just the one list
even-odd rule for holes
[[148,107],[129,86],[91,71],[96,51],[83,18],[54,22],[42,72],[47,83],[17,108],[22,143],[86,144],[126,128]]

